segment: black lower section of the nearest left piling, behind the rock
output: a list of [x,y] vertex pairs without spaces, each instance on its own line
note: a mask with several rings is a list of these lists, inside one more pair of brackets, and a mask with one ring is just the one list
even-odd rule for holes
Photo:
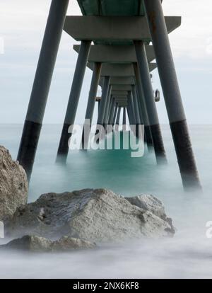
[[33,171],[33,163],[35,161],[41,128],[42,124],[25,120],[17,160],[25,169],[28,181],[30,181],[30,176]]

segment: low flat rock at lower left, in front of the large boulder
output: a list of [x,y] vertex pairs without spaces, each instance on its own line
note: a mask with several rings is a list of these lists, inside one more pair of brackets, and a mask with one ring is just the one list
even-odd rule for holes
[[63,252],[76,249],[95,248],[96,244],[81,239],[64,236],[57,241],[50,241],[44,237],[35,235],[26,235],[20,239],[14,239],[0,248],[16,249],[31,252]]

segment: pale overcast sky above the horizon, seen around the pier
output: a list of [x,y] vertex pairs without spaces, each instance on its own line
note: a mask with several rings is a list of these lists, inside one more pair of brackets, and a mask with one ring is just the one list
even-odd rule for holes
[[[23,123],[33,85],[50,0],[0,0],[0,123]],[[182,26],[170,35],[172,52],[187,119],[191,124],[212,123],[212,1],[164,0],[166,16],[182,16]],[[70,0],[69,15],[81,15]],[[46,123],[62,123],[69,98],[76,43],[63,33],[45,112]],[[0,52],[2,47],[0,48]],[[2,52],[1,52],[2,53]],[[91,71],[86,70],[77,122],[86,111]],[[160,89],[157,70],[153,88]],[[157,103],[161,123],[167,123],[163,98]]]

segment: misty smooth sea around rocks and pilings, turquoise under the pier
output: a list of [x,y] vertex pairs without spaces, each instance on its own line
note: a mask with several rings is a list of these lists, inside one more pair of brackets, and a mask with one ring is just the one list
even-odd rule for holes
[[[168,166],[158,167],[151,152],[131,158],[129,151],[72,151],[66,166],[58,166],[54,161],[61,125],[45,125],[29,201],[42,193],[82,188],[109,188],[127,196],[151,193],[164,202],[177,227],[173,239],[130,242],[86,253],[45,255],[45,263],[33,255],[23,260],[20,254],[0,254],[6,263],[4,271],[0,268],[0,277],[212,277],[212,239],[206,238],[206,222],[212,220],[212,126],[190,126],[204,194],[183,192],[170,129],[164,125],[162,130]],[[11,151],[13,159],[21,132],[21,125],[0,125],[0,144]]]

